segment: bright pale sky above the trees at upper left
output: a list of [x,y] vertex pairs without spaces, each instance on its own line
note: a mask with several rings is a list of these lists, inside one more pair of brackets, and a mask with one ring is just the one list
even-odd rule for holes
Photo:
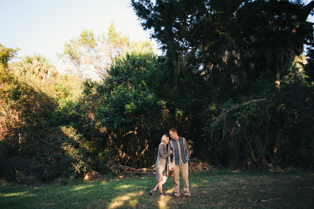
[[82,29],[107,34],[111,21],[131,41],[146,40],[131,0],[0,0],[0,43],[21,48],[18,56],[43,54],[62,71],[56,52]]

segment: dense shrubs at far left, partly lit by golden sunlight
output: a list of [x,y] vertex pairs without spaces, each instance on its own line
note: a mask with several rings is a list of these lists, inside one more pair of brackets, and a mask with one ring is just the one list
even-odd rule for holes
[[0,79],[0,176],[38,184],[91,169],[106,172],[106,152],[71,126],[81,125],[82,115],[73,111],[74,91],[59,97],[64,78],[47,80],[47,93],[41,91],[45,84],[9,71],[1,71]]

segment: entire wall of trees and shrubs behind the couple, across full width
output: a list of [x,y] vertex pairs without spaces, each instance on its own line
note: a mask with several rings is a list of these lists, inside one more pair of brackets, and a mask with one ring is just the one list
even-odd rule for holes
[[[312,42],[313,27],[297,26],[313,5],[277,3],[285,15],[268,1],[132,1],[163,55],[111,24],[107,35],[83,30],[66,43],[58,54],[73,66],[66,75],[39,55],[8,65],[18,49],[1,45],[0,176],[35,184],[150,167],[173,127],[192,157],[215,166],[312,168],[314,53],[304,57],[300,41]],[[244,11],[263,24],[244,21]],[[284,47],[265,42],[283,35]]]

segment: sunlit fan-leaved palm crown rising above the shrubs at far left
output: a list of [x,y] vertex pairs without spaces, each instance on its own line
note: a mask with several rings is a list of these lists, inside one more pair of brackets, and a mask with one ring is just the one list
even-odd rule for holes
[[19,74],[30,74],[31,77],[46,79],[53,77],[56,74],[54,64],[41,54],[26,55],[19,62],[14,64],[17,67]]

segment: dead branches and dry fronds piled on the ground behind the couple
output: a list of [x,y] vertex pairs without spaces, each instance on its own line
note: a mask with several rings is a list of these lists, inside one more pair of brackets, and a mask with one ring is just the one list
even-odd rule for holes
[[[199,171],[209,171],[210,169],[213,168],[213,166],[209,165],[207,162],[202,161],[198,158],[192,158],[189,162],[189,172],[194,173],[194,172],[199,172]],[[128,174],[156,174],[156,169],[155,165],[149,168],[141,168],[141,169],[136,169],[124,165],[118,165],[115,166],[113,169],[113,172],[116,173],[118,176],[125,176]],[[171,175],[171,172],[169,173]]]

